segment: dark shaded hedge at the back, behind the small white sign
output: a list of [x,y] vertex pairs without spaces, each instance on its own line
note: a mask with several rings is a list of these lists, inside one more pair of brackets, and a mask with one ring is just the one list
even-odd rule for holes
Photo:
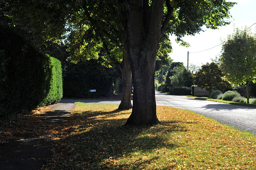
[[[111,68],[101,65],[98,60],[90,59],[70,64],[63,74],[63,96],[66,98],[97,98],[113,94]],[[96,92],[90,92],[90,90]]]

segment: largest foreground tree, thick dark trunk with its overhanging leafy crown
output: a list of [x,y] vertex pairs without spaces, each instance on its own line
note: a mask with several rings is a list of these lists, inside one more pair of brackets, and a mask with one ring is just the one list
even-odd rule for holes
[[[19,7],[24,6],[24,2],[19,2]],[[44,0],[42,2],[44,8],[55,6],[56,12],[61,12],[60,16],[65,16],[56,20],[56,23],[65,21],[64,26],[61,27],[63,30],[68,29],[65,27],[68,22],[74,26],[79,24],[75,15],[80,14],[79,21],[85,22],[84,25],[88,26],[102,43],[105,42],[109,50],[112,43],[120,48],[123,57],[127,56],[132,71],[134,97],[132,114],[126,125],[159,123],[156,116],[154,71],[160,38],[165,34],[174,34],[180,40],[184,35],[194,35],[202,31],[204,25],[212,29],[226,25],[229,22],[224,19],[229,18],[228,10],[234,5],[233,2],[226,0]],[[29,14],[33,16],[32,19],[37,18],[35,11],[28,11],[26,16]],[[35,19],[35,23],[36,21],[39,20]],[[44,23],[49,26],[52,24]],[[51,30],[47,25],[46,28]]]

